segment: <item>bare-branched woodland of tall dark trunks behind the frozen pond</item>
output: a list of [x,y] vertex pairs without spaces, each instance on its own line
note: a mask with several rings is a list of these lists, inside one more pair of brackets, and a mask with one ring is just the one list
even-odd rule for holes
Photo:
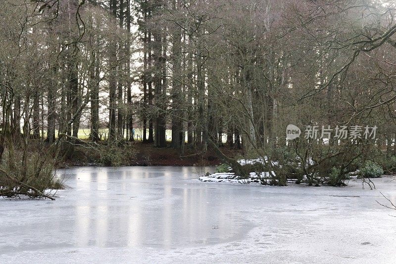
[[131,165],[144,146],[270,185],[394,174],[395,16],[389,0],[3,0],[0,196],[48,196],[62,162]]

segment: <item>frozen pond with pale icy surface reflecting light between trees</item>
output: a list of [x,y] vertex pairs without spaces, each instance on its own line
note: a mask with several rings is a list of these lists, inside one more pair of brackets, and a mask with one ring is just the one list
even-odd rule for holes
[[[0,200],[1,263],[396,263],[377,190],[202,183],[197,167],[80,167],[56,201]],[[338,197],[356,196],[356,197]]]

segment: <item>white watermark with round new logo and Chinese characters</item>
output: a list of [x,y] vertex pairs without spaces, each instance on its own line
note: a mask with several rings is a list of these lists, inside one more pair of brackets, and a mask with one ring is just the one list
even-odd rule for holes
[[[305,139],[375,139],[377,134],[377,126],[304,126]],[[286,128],[286,138],[293,140],[301,135],[301,130],[293,124]]]

